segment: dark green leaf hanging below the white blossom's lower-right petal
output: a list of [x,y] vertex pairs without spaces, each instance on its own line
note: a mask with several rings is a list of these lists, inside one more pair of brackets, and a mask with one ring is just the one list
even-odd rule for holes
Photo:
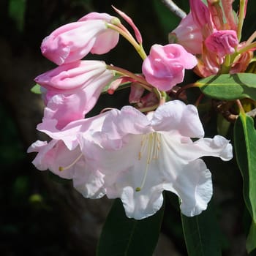
[[184,238],[189,256],[221,256],[219,225],[211,203],[195,217],[181,214]]

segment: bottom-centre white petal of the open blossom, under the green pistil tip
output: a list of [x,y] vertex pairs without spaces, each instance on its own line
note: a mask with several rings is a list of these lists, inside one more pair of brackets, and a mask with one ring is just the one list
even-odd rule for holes
[[139,192],[135,191],[140,187],[145,174],[144,163],[141,165],[138,160],[135,160],[135,166],[120,173],[116,182],[107,188],[109,198],[121,198],[129,218],[144,219],[155,214],[162,206],[162,179],[157,176],[158,170],[154,170],[154,167],[148,170],[145,185]]

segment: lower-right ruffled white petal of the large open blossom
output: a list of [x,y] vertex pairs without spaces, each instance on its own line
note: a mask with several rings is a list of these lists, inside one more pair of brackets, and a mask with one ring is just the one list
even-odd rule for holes
[[[180,151],[179,142],[165,135],[162,135],[160,146],[159,170],[165,176],[164,189],[181,198],[183,214],[200,214],[212,195],[211,173],[206,164],[202,159],[188,161]],[[186,153],[190,154],[190,151]]]

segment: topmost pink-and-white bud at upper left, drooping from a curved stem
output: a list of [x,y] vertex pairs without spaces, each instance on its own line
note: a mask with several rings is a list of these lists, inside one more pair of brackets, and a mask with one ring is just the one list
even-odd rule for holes
[[119,37],[118,32],[106,26],[113,18],[106,13],[91,12],[77,22],[59,27],[43,39],[42,54],[61,65],[78,61],[89,52],[108,53]]

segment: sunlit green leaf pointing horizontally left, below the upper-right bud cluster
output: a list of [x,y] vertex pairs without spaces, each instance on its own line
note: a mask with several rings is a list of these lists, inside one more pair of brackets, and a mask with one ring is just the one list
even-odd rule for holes
[[195,86],[199,87],[203,94],[214,99],[256,100],[256,74],[252,73],[211,75],[198,80]]

